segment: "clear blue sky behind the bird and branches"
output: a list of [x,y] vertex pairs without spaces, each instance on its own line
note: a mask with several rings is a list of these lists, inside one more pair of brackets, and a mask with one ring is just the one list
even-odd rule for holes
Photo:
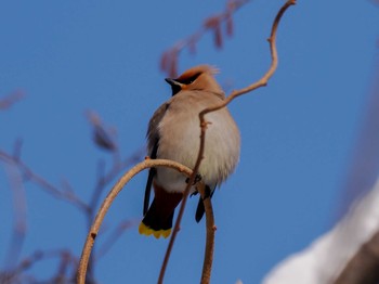
[[[283,1],[251,1],[234,15],[222,50],[206,35],[197,53],[184,51],[180,70],[218,66],[223,86],[241,88],[270,64],[266,38]],[[84,112],[117,128],[122,156],[145,143],[153,112],[170,96],[161,53],[223,11],[224,1],[2,1],[0,98],[24,100],[0,112],[0,149],[22,138],[24,162],[51,183],[67,180],[88,199],[96,163],[108,154],[91,141]],[[278,33],[279,67],[266,88],[230,106],[241,132],[236,172],[213,198],[218,225],[212,281],[259,283],[287,255],[334,223],[356,134],[377,67],[378,7],[369,1],[299,1]],[[146,172],[119,195],[106,218],[112,228],[141,218]],[[0,171],[0,262],[11,238],[12,194]],[[23,256],[69,248],[79,256],[86,220],[70,205],[25,184],[28,231]],[[196,283],[205,224],[190,201],[167,271],[167,283]],[[104,238],[99,236],[97,242]],[[154,283],[168,241],[132,228],[96,264],[101,283]],[[31,274],[47,279],[54,261]]]

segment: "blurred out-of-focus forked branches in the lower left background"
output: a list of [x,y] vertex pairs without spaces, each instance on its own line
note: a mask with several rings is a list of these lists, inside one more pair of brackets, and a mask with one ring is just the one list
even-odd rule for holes
[[[110,182],[113,182],[126,168],[135,164],[143,158],[144,149],[135,151],[129,157],[121,158],[119,147],[116,139],[116,129],[106,127],[100,116],[94,112],[87,113],[90,126],[92,127],[92,138],[94,144],[103,151],[113,154],[113,165],[109,169],[105,169],[105,162],[100,160],[97,166],[95,186],[92,191],[90,201],[87,203],[82,201],[71,188],[68,181],[64,181],[62,190],[53,185],[42,176],[36,173],[31,167],[26,165],[22,159],[23,141],[17,139],[14,143],[13,154],[9,154],[0,150],[0,162],[5,166],[11,191],[14,196],[14,229],[9,245],[9,250],[4,259],[5,267],[0,270],[0,283],[24,283],[38,282],[39,280],[26,273],[27,269],[36,262],[47,258],[58,258],[57,268],[53,273],[52,283],[68,283],[75,279],[76,267],[78,264],[78,257],[68,249],[43,250],[39,248],[29,257],[22,258],[23,243],[26,237],[26,194],[24,184],[32,182],[38,189],[43,190],[53,198],[66,202],[69,205],[79,209],[80,214],[84,216],[88,228],[90,228],[94,214],[97,209],[99,202],[103,196],[103,191]],[[104,256],[110,247],[115,244],[122,233],[135,225],[135,221],[125,220],[117,225],[112,233],[109,240],[103,245],[102,250],[96,259]],[[94,283],[94,259],[91,258],[89,263],[88,283]]]

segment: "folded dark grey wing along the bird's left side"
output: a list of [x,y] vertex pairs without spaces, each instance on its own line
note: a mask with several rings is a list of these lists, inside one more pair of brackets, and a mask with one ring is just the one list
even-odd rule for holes
[[[162,104],[153,115],[151,121],[148,122],[147,129],[147,149],[149,158],[157,158],[157,151],[159,145],[159,129],[158,125],[164,118],[167,109],[169,108],[169,103]],[[152,193],[152,184],[154,176],[156,175],[156,169],[151,168],[148,171],[146,188],[145,188],[145,197],[143,203],[143,215],[145,216],[148,209],[151,193]]]

